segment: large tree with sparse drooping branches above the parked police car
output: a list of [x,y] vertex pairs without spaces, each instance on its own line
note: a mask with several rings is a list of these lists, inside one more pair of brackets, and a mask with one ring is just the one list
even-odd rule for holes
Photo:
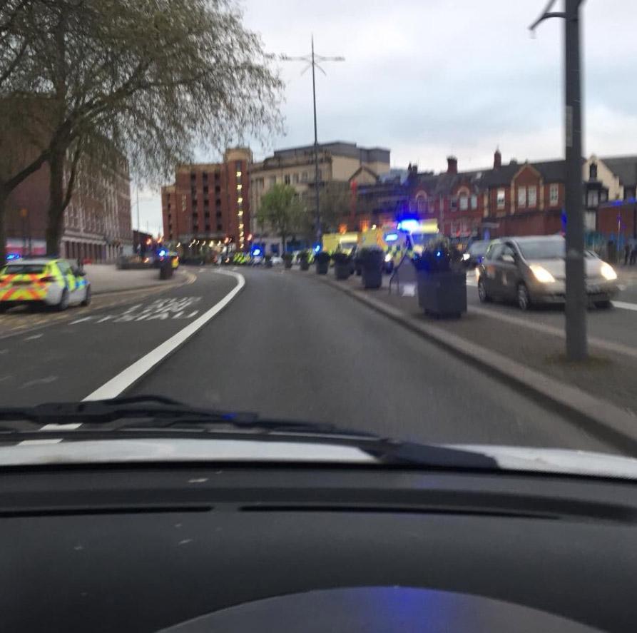
[[29,51],[0,98],[34,103],[16,129],[47,128],[47,142],[39,151],[31,143],[26,164],[0,173],[0,216],[3,196],[48,162],[49,253],[89,148],[106,166],[128,156],[137,178],[158,179],[197,147],[264,138],[279,124],[280,81],[230,1],[31,4],[15,29]]

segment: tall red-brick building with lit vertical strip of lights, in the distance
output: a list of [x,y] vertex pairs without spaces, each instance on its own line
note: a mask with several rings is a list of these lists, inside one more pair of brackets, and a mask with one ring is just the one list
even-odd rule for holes
[[187,245],[193,240],[243,249],[250,227],[248,148],[228,149],[222,163],[183,165],[175,183],[161,188],[165,240]]

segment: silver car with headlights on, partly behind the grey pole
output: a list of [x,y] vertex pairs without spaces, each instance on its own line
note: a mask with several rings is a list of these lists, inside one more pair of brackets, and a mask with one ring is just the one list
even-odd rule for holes
[[[511,300],[522,310],[534,303],[564,303],[565,254],[561,236],[494,240],[477,268],[481,302]],[[609,308],[618,292],[617,273],[595,253],[586,251],[585,255],[588,300],[598,308]]]

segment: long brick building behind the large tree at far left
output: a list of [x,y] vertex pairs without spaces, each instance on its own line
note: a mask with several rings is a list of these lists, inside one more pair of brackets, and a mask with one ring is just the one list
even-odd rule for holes
[[[46,253],[49,166],[45,163],[9,195],[6,211],[8,253]],[[81,165],[73,197],[64,213],[62,257],[108,261],[132,246],[131,180],[123,156],[99,170]]]

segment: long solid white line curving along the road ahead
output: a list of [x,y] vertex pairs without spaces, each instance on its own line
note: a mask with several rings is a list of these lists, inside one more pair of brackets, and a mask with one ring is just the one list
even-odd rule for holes
[[133,363],[133,365],[121,373],[118,373],[115,378],[111,378],[108,383],[102,385],[90,395],[87,395],[84,400],[106,400],[120,395],[123,390],[128,389],[131,385],[136,383],[143,375],[146,375],[146,373],[153,369],[155,365],[158,365],[158,363],[170,353],[173,353],[180,345],[183,345],[193,334],[203,328],[210,319],[218,315],[218,313],[243,290],[245,278],[243,275],[240,275],[240,273],[230,273],[229,271],[219,270],[217,274],[234,277],[235,280],[237,280],[237,285],[235,285],[235,288],[230,290],[219,303],[203,313],[197,320],[190,323],[190,325],[186,325],[183,330],[180,330],[168,340],[165,340],[161,345],[137,360],[136,363]]

